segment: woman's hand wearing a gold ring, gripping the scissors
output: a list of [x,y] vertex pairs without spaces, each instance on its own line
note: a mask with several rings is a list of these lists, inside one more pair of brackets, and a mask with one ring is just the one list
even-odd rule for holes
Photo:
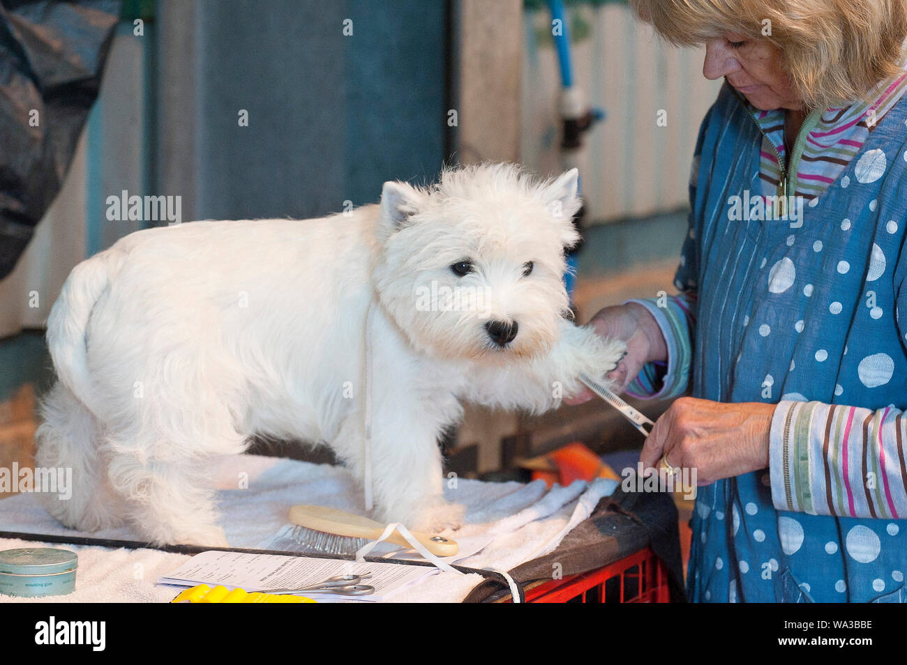
[[639,455],[644,469],[667,456],[671,467],[695,468],[697,485],[768,467],[775,404],[681,397],[662,414]]

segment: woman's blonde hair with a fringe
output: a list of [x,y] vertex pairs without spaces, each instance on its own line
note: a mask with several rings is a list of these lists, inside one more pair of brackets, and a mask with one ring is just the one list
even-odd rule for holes
[[668,42],[704,43],[722,34],[765,39],[781,50],[809,107],[865,100],[900,69],[907,0],[629,0]]

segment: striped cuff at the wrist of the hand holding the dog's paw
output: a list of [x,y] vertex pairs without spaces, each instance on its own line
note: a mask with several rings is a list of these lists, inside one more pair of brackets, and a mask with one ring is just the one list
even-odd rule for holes
[[[692,348],[687,311],[678,304],[677,296],[668,296],[666,306],[659,307],[659,298],[628,300],[641,304],[655,317],[668,347],[668,362],[647,362],[639,376],[630,381],[627,394],[639,400],[666,400],[678,397],[687,390]],[[624,303],[624,304],[627,304]]]

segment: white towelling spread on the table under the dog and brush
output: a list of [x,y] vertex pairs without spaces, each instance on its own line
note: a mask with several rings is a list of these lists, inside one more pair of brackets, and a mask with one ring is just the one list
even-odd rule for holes
[[[256,547],[288,524],[287,512],[295,504],[329,506],[362,514],[361,490],[343,467],[315,465],[283,458],[238,455],[219,462],[217,487],[221,523],[234,547]],[[466,508],[465,524],[454,538],[490,533],[493,541],[479,554],[461,562],[474,568],[510,570],[534,556],[553,550],[564,535],[589,516],[602,496],[617,486],[613,480],[576,481],[570,487],[548,490],[541,481],[483,483],[458,479],[445,487],[448,500]],[[245,488],[240,488],[245,487]],[[0,529],[53,535],[137,540],[129,527],[93,534],[66,529],[36,501],[24,494],[0,500]],[[34,546],[21,540],[0,539],[0,549]],[[167,602],[173,589],[154,585],[161,575],[176,570],[189,556],[156,550],[65,547],[79,554],[75,592],[56,596],[55,602]],[[477,574],[439,573],[395,594],[394,602],[460,602],[482,582]],[[0,601],[41,602],[44,599]]]

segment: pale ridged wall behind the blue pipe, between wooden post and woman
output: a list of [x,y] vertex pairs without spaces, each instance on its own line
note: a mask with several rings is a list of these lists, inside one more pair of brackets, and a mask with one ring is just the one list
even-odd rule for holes
[[[560,74],[551,16],[525,14],[522,160],[559,170]],[[571,9],[576,85],[607,118],[587,134],[581,169],[590,223],[642,217],[688,204],[688,177],[699,123],[717,97],[702,75],[703,52],[661,43],[624,5]],[[658,126],[665,111],[667,126]]]

